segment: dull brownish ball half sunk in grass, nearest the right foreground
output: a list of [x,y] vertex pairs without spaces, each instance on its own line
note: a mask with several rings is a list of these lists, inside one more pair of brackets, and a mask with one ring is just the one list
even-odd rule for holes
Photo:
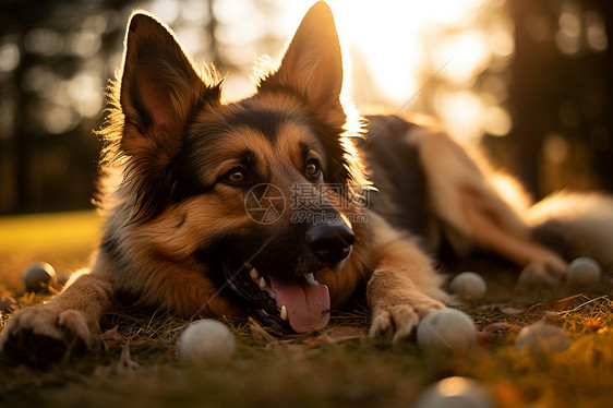
[[515,350],[526,350],[533,356],[565,351],[573,345],[570,336],[551,323],[538,322],[519,331],[515,339]]

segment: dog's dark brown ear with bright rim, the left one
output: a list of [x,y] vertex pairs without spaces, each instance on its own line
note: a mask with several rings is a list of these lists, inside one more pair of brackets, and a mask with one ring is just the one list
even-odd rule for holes
[[215,87],[218,99],[218,86],[203,82],[171,31],[149,14],[134,13],[121,76],[122,149],[155,161],[168,159],[192,110]]

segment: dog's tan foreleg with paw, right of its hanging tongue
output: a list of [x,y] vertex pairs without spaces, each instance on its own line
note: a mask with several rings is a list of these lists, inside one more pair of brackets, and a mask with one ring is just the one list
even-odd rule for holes
[[409,336],[421,317],[443,309],[440,300],[447,296],[440,289],[443,278],[426,254],[388,226],[375,229],[383,236],[375,237],[377,262],[366,286],[370,336],[397,341]]

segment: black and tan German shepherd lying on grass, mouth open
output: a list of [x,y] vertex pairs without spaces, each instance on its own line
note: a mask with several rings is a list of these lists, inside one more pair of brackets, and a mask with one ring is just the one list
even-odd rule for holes
[[430,255],[443,241],[507,257],[521,281],[561,283],[578,255],[613,264],[611,199],[529,208],[435,125],[347,111],[324,2],[252,96],[227,103],[221,82],[156,17],[133,13],[100,131],[99,249],[59,296],[14,313],[7,353],[95,349],[113,301],[306,333],[357,297],[370,335],[399,340],[449,300]]

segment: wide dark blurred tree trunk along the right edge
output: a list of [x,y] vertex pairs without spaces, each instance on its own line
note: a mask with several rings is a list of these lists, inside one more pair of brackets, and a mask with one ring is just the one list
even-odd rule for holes
[[[536,197],[565,187],[613,191],[613,2],[508,5],[516,41],[509,140],[517,175]],[[604,50],[590,45],[593,13],[606,26]],[[575,37],[565,37],[569,20]]]

